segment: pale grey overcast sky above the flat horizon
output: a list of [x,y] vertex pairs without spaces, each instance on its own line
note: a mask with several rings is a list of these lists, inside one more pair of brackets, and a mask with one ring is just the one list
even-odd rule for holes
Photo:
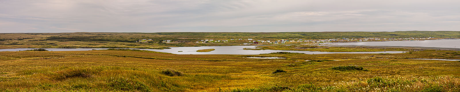
[[0,0],[0,32],[460,31],[460,0]]

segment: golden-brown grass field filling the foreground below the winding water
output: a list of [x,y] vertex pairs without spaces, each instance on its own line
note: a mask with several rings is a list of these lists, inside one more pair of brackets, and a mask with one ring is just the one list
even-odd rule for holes
[[[244,57],[285,57],[250,59]],[[2,92],[459,92],[454,51],[402,54],[0,52]],[[276,72],[284,70],[286,72]],[[173,75],[173,76],[171,76]]]

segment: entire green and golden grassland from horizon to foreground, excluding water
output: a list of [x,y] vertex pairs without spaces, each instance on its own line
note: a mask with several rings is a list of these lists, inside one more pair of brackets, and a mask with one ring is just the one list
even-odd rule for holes
[[[456,51],[291,44],[247,50],[400,54],[170,54],[138,49],[232,46],[247,40],[201,39],[460,38],[460,32],[158,32],[0,33],[0,92],[460,92]],[[152,39],[136,43],[139,39]],[[162,42],[172,40],[171,43]],[[260,45],[260,44],[259,44]],[[261,44],[264,45],[264,44]],[[127,49],[137,48],[137,49]],[[202,49],[212,51],[213,49]],[[253,59],[246,57],[280,57]]]

